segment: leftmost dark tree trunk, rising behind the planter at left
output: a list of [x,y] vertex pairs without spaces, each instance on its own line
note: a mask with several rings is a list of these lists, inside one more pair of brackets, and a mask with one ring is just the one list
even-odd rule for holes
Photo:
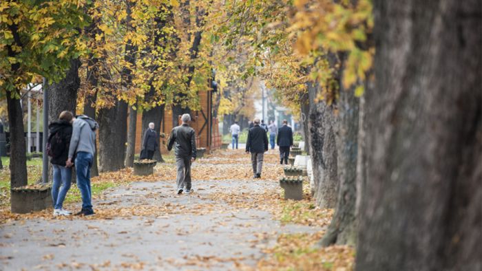
[[7,92],[8,123],[10,124],[10,187],[27,185],[27,158],[23,134],[23,111],[20,100]]

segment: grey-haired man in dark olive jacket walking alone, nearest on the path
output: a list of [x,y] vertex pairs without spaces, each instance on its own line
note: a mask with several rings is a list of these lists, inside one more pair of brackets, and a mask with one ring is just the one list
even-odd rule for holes
[[191,116],[184,114],[181,120],[182,124],[172,129],[167,142],[167,150],[171,151],[174,145],[176,153],[178,194],[182,194],[185,186],[186,193],[191,193],[191,163],[196,160],[196,132],[188,124]]

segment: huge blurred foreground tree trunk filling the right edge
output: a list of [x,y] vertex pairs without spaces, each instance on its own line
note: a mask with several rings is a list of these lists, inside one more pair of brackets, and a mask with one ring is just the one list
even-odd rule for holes
[[374,4],[356,268],[481,270],[481,1]]

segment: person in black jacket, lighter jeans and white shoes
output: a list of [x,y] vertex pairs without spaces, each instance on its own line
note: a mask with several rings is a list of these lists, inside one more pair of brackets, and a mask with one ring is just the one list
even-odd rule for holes
[[59,120],[49,124],[49,137],[47,153],[50,156],[50,163],[54,170],[52,182],[52,204],[54,205],[54,216],[72,215],[68,210],[63,209],[65,195],[70,189],[72,182],[72,167],[66,167],[69,154],[70,138],[72,138],[72,118],[70,111],[63,111]]

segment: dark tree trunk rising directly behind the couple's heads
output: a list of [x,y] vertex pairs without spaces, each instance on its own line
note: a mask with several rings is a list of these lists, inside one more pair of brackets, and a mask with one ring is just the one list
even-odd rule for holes
[[70,68],[59,83],[52,83],[48,87],[48,120],[49,122],[59,119],[62,111],[71,111],[75,115],[77,105],[77,92],[81,86],[81,78],[78,78],[78,68],[81,61],[72,59]]

